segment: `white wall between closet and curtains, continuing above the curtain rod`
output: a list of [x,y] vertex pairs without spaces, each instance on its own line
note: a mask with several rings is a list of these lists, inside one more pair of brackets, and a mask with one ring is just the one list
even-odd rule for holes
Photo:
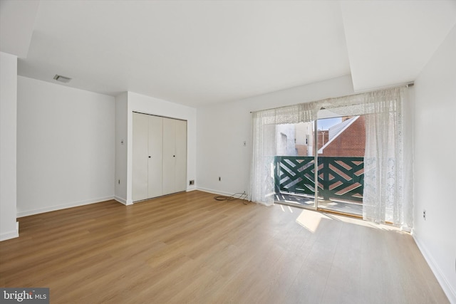
[[[197,109],[197,188],[231,195],[249,189],[251,111],[353,93],[350,76]],[[244,147],[247,141],[247,147]],[[219,182],[218,178],[222,180]]]

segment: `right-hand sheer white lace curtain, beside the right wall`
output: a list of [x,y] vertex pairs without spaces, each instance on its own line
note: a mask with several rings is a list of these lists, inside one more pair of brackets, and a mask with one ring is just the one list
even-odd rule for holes
[[388,88],[331,98],[322,107],[365,115],[363,219],[413,226],[413,110],[409,89]]

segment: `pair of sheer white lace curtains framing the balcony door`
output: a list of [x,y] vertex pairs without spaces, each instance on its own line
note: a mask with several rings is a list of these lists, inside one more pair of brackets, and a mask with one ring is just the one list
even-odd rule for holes
[[[329,98],[254,112],[250,199],[274,203],[274,142],[271,125],[316,119],[321,108],[338,115],[366,115],[363,218],[413,226],[413,110],[408,88]],[[268,127],[269,126],[269,127]]]

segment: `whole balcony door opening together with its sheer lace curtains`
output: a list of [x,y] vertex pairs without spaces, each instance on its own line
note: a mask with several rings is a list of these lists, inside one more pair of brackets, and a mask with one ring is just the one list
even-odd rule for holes
[[[405,87],[387,88],[252,112],[249,199],[358,216],[361,208],[363,219],[410,231],[413,123],[408,95]],[[336,117],[339,122],[324,127],[323,119]],[[301,136],[299,122],[308,125]],[[356,126],[358,132],[351,130]],[[363,140],[366,150],[358,154]]]

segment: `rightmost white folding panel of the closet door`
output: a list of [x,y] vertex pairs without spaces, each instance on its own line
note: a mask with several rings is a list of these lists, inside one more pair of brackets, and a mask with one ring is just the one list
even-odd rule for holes
[[175,120],[175,192],[187,189],[187,122]]

